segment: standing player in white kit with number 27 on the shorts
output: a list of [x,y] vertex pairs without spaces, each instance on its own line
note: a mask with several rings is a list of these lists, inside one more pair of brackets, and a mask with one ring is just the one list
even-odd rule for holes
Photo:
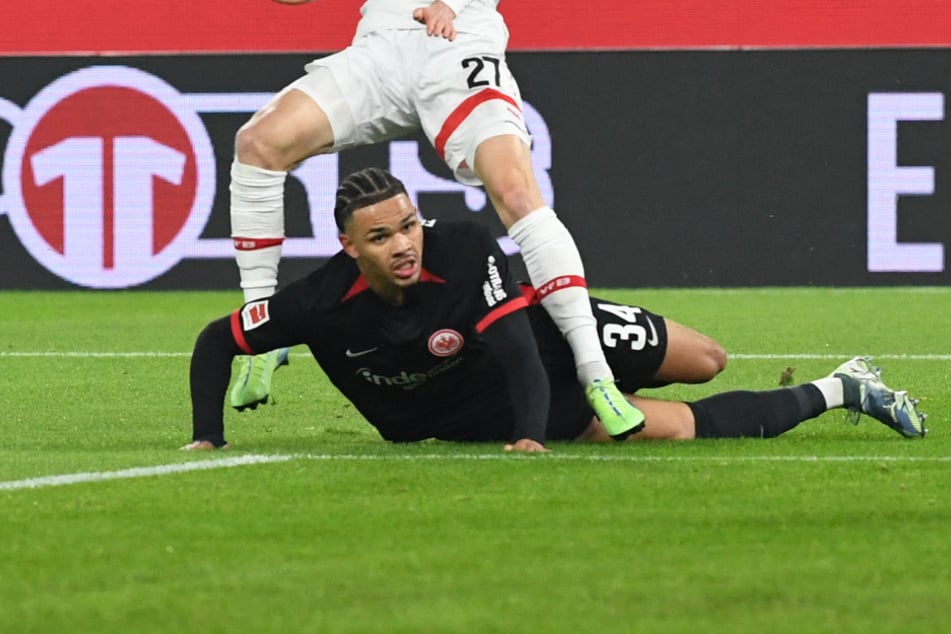
[[[276,0],[303,4],[308,0]],[[422,129],[456,179],[483,185],[521,250],[542,305],[574,354],[578,379],[608,432],[623,439],[643,414],[618,390],[570,233],[548,207],[531,164],[518,85],[505,61],[498,0],[367,0],[352,44],[315,60],[238,131],[231,232],[245,301],[276,290],[287,171]],[[267,400],[286,350],[248,357],[233,407]]]

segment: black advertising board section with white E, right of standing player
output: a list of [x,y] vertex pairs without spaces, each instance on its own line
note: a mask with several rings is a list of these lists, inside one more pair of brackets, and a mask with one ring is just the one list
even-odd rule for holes
[[949,61],[664,51],[513,66],[545,113],[555,209],[593,284],[878,285],[951,281]]

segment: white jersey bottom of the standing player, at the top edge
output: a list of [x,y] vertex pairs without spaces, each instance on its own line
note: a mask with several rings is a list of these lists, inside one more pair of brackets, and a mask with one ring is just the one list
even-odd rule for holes
[[[459,33],[508,33],[502,15],[497,11],[499,0],[443,0],[456,12],[453,24]],[[354,39],[388,29],[424,29],[426,25],[413,19],[413,11],[428,7],[433,0],[366,0],[360,7],[360,22]]]

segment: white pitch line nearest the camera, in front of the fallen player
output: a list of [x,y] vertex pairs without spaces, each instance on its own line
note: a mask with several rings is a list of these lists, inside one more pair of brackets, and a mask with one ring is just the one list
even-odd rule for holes
[[294,454],[294,455],[254,455],[229,456],[212,460],[196,462],[182,462],[153,467],[134,467],[118,471],[91,471],[84,473],[66,473],[63,475],[42,476],[25,480],[9,480],[0,482],[0,491],[16,491],[19,489],[41,489],[45,487],[65,486],[68,484],[82,484],[85,482],[103,482],[106,480],[126,480],[130,478],[145,478],[160,475],[173,475],[188,471],[204,471],[209,469],[227,469],[246,465],[265,464],[271,462],[287,462],[289,460],[317,460],[317,461],[350,461],[350,462],[412,462],[416,460],[428,461],[485,461],[485,460],[571,460],[578,462],[711,462],[718,464],[749,463],[749,462],[951,462],[951,456],[645,456],[645,455],[577,455],[577,454],[393,454],[393,455],[358,455],[358,454]]

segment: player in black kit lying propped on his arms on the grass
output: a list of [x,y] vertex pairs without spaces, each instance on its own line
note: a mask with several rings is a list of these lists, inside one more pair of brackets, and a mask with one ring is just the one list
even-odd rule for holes
[[[386,440],[610,440],[575,378],[571,349],[476,225],[420,219],[403,184],[368,168],[346,178],[334,216],[343,250],[273,296],[208,324],[192,356],[192,442],[229,446],[223,408],[232,358],[305,344]],[[633,394],[702,382],[726,356],[709,338],[642,308],[592,298],[620,389],[646,416],[632,439],[773,437],[826,410],[868,414],[924,436],[917,401],[882,383],[867,357],[795,387],[691,403]]]

